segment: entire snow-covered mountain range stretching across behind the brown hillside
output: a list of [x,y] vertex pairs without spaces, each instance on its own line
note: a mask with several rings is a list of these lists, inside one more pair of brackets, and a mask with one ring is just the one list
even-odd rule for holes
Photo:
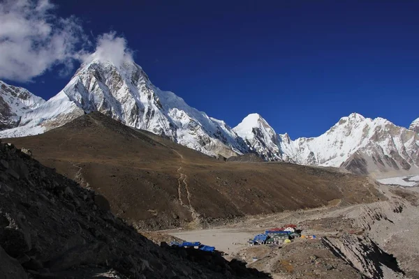
[[[231,128],[190,107],[175,93],[154,86],[133,61],[119,66],[98,59],[83,63],[64,89],[22,112],[17,127],[0,131],[0,137],[45,133],[94,111],[213,157],[256,153],[267,161],[342,166],[359,174],[419,172],[418,134],[381,117],[369,119],[352,113],[318,137],[295,140],[275,132],[260,114],[249,114]],[[5,117],[3,122],[7,122]],[[359,169],[360,162],[351,163],[355,153],[357,160],[365,157],[362,162],[369,166]],[[354,165],[358,167],[349,167]]]

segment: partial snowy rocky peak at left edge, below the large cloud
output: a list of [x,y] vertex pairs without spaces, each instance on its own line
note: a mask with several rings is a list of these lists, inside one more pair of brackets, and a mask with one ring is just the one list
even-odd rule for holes
[[27,89],[0,81],[0,130],[17,126],[23,114],[43,103],[43,98],[35,96]]

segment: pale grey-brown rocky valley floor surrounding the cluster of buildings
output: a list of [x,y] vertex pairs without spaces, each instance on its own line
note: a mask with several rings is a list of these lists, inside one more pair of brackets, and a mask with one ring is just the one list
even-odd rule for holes
[[[419,190],[383,185],[380,189],[387,200],[253,216],[211,229],[161,233],[215,246],[228,254],[226,259],[243,259],[249,267],[277,279],[418,278],[419,222],[415,216],[419,213]],[[248,240],[256,234],[286,223],[296,224],[302,235],[316,235],[316,239],[249,247]]]

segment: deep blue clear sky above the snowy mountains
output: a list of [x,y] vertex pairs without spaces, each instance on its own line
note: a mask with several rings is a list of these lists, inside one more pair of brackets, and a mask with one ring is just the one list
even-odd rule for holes
[[[116,31],[161,89],[230,126],[260,113],[277,133],[321,135],[358,112],[419,117],[419,1],[52,1],[89,40]],[[58,67],[17,83],[43,98]]]

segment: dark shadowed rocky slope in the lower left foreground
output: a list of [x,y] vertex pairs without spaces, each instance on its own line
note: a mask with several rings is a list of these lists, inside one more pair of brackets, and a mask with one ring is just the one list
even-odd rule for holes
[[237,261],[156,246],[108,201],[0,144],[0,278],[269,278]]

